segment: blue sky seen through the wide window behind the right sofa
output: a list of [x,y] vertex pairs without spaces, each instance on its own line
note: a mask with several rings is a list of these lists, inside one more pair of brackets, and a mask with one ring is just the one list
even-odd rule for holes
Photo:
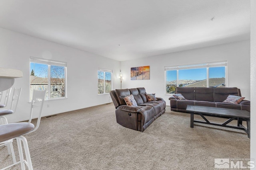
[[[204,80],[207,78],[206,68],[179,70],[179,80]],[[177,80],[177,70],[166,71],[166,81]],[[225,77],[225,67],[210,67],[209,78]]]

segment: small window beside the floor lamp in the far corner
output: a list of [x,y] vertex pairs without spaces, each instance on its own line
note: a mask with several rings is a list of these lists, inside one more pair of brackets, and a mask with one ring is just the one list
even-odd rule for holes
[[112,90],[112,70],[98,68],[98,94],[109,93]]

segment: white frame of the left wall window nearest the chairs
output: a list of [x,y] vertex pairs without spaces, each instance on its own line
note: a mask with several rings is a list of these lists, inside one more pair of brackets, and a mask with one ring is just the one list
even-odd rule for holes
[[[30,63],[38,63],[38,64],[47,64],[48,65],[48,99],[45,99],[45,100],[59,100],[59,99],[68,98],[67,97],[68,95],[67,95],[67,63],[66,62],[30,57]],[[64,72],[65,72],[65,89],[64,89],[65,96],[64,97],[50,98],[50,94],[51,94],[51,90],[52,90],[52,88],[50,87],[51,86],[51,82],[50,82],[51,65],[64,67]]]

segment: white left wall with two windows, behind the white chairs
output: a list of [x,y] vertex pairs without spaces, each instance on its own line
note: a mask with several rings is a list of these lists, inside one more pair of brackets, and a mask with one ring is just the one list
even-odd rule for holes
[[[23,77],[17,78],[13,85],[22,87],[22,93],[17,113],[8,116],[9,122],[28,119],[30,57],[67,62],[68,98],[46,101],[42,112],[44,116],[112,102],[109,94],[98,95],[97,69],[112,69],[113,75],[118,75],[119,61],[2,28],[0,47],[0,67],[23,72]],[[113,88],[119,88],[117,77],[113,76],[113,79]]]

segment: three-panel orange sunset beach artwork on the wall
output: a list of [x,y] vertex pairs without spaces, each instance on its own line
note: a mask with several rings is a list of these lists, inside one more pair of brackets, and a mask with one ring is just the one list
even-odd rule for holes
[[150,66],[132,67],[131,80],[150,80]]

